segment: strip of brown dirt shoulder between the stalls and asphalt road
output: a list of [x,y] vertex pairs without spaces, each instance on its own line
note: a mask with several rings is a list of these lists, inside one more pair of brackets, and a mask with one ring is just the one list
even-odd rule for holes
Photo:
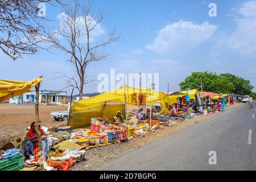
[[[230,110],[234,107],[240,106],[241,104],[230,105],[226,110]],[[216,117],[220,113],[208,114],[208,115],[199,115],[192,119],[185,119],[184,121],[177,122],[171,126],[160,126],[160,129],[152,131],[144,135],[143,137],[134,137],[133,139],[128,140],[128,142],[114,143],[107,146],[92,148],[91,150],[86,151],[85,161],[80,163],[75,163],[72,166],[72,170],[75,171],[84,171],[89,169],[95,169],[100,167],[104,163],[108,163],[110,160],[118,158],[120,155],[125,155],[127,152],[135,150],[139,147],[142,147],[150,142],[160,139],[168,134],[179,131],[185,127],[196,125],[197,123],[207,121],[207,119]]]

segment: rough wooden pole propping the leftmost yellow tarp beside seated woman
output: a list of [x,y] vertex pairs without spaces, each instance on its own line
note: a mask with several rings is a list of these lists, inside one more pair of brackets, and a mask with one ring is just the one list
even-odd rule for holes
[[[42,78],[43,76],[40,76]],[[36,135],[38,136],[38,146],[39,150],[43,151],[43,144],[42,144],[42,138],[40,134],[40,123],[39,123],[39,89],[40,89],[40,83],[35,86],[36,90],[36,96],[35,96],[35,122],[36,122]]]

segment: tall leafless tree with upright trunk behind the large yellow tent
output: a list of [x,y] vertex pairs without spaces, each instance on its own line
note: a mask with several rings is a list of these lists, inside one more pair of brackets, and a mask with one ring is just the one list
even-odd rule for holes
[[[105,14],[100,9],[93,16],[93,5],[90,3],[80,4],[74,0],[71,4],[62,6],[62,11],[59,16],[61,23],[53,30],[48,30],[46,37],[52,47],[70,56],[68,61],[73,64],[79,80],[68,77],[65,73],[61,77],[67,81],[67,86],[79,90],[81,100],[84,84],[92,82],[86,80],[86,68],[90,63],[105,60],[109,56],[105,53],[105,47],[117,42],[119,37],[115,35],[115,30],[103,30],[101,24],[104,23]],[[108,35],[105,34],[106,31]]]

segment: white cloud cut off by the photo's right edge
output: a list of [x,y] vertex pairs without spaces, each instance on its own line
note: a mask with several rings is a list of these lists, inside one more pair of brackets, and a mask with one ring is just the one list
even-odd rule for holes
[[237,10],[240,18],[234,19],[237,27],[218,40],[217,48],[226,48],[245,57],[256,56],[256,1],[248,1]]

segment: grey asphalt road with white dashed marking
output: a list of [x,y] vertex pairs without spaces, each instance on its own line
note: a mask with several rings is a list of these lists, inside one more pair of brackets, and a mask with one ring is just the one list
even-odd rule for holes
[[[256,170],[256,103],[234,107],[96,170]],[[250,131],[251,130],[251,131]],[[216,164],[214,155],[216,152]]]

